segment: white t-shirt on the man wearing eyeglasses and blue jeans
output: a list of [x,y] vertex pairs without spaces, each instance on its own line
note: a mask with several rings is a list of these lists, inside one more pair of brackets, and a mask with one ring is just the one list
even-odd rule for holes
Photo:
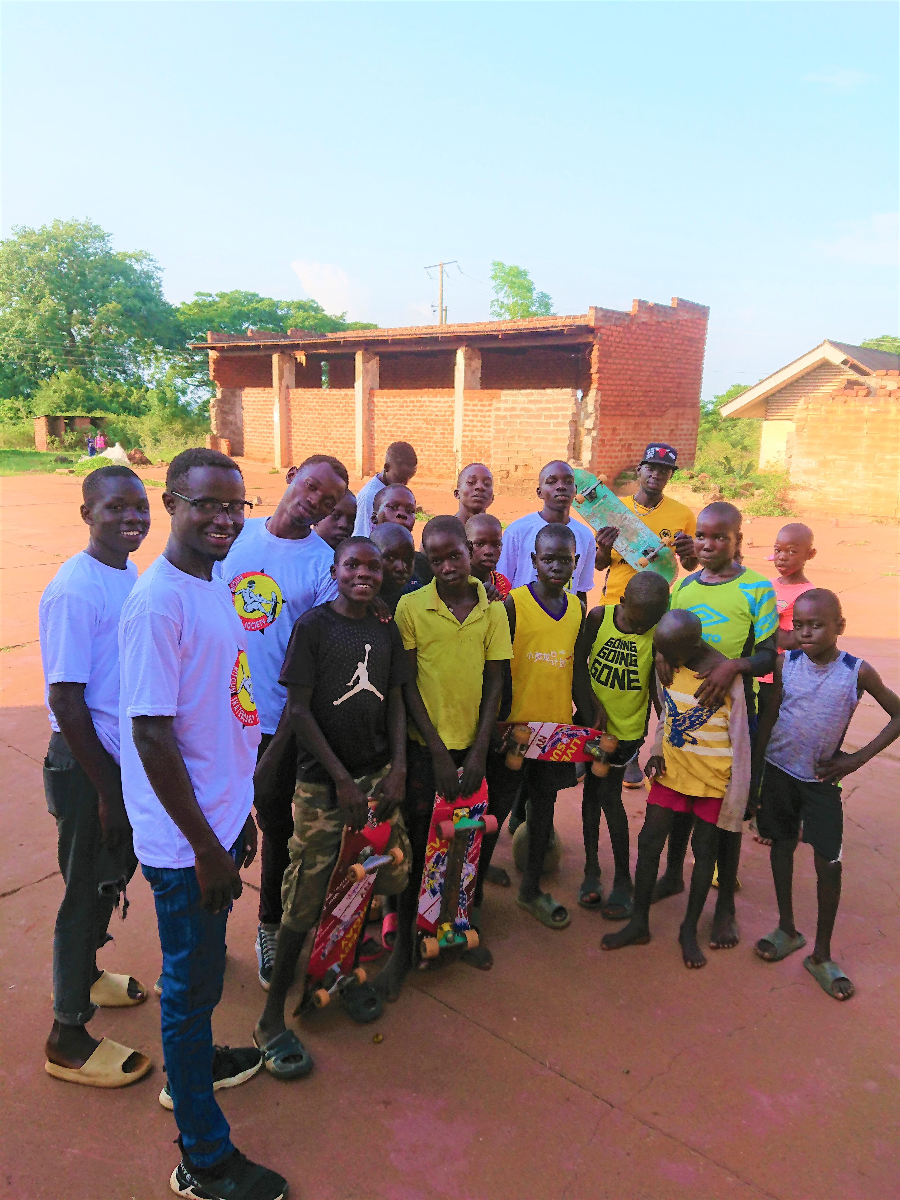
[[197,803],[230,850],[253,803],[259,716],[247,635],[221,580],[198,580],[160,556],[122,608],[122,794],[134,853],[146,866],[193,866],[191,845],[150,786],[132,716],[174,716]]

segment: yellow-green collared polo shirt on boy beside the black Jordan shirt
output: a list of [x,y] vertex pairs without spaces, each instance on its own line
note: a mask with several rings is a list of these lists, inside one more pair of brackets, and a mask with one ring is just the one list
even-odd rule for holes
[[[466,750],[475,740],[485,662],[512,658],[506,610],[488,602],[473,575],[469,583],[478,588],[478,604],[462,624],[438,595],[436,580],[401,596],[395,617],[403,648],[416,652],[419,694],[448,750]],[[425,744],[412,721],[409,737]]]

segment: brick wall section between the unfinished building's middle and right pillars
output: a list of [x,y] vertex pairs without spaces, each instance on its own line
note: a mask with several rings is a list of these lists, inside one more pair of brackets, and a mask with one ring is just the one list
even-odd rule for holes
[[[383,376],[382,376],[383,378]],[[372,391],[370,462],[380,470],[391,442],[409,442],[419,456],[420,479],[454,474],[454,389],[418,388]]]

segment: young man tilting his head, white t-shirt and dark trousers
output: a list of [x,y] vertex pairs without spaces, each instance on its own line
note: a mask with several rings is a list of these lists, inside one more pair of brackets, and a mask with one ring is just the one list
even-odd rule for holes
[[[246,521],[227,557],[214,568],[214,575],[230,588],[247,634],[247,659],[263,734],[260,757],[278,727],[287,700],[278,676],[294,622],[337,595],[331,578],[335,552],[312,527],[328,517],[346,494],[343,463],[330,455],[312,455],[288,472],[288,487],[275,512]],[[257,803],[263,847],[256,952],[259,983],[266,991],[281,928],[281,882],[290,864],[295,767],[286,754],[277,786],[266,788]]]

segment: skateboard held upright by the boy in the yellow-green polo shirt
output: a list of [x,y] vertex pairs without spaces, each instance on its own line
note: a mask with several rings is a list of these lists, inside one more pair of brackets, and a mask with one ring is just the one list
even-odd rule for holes
[[434,797],[425,848],[425,869],[416,913],[416,959],[436,959],[442,950],[472,949],[478,932],[469,913],[475,892],[481,838],[497,832],[487,815],[487,784],[456,800]]

